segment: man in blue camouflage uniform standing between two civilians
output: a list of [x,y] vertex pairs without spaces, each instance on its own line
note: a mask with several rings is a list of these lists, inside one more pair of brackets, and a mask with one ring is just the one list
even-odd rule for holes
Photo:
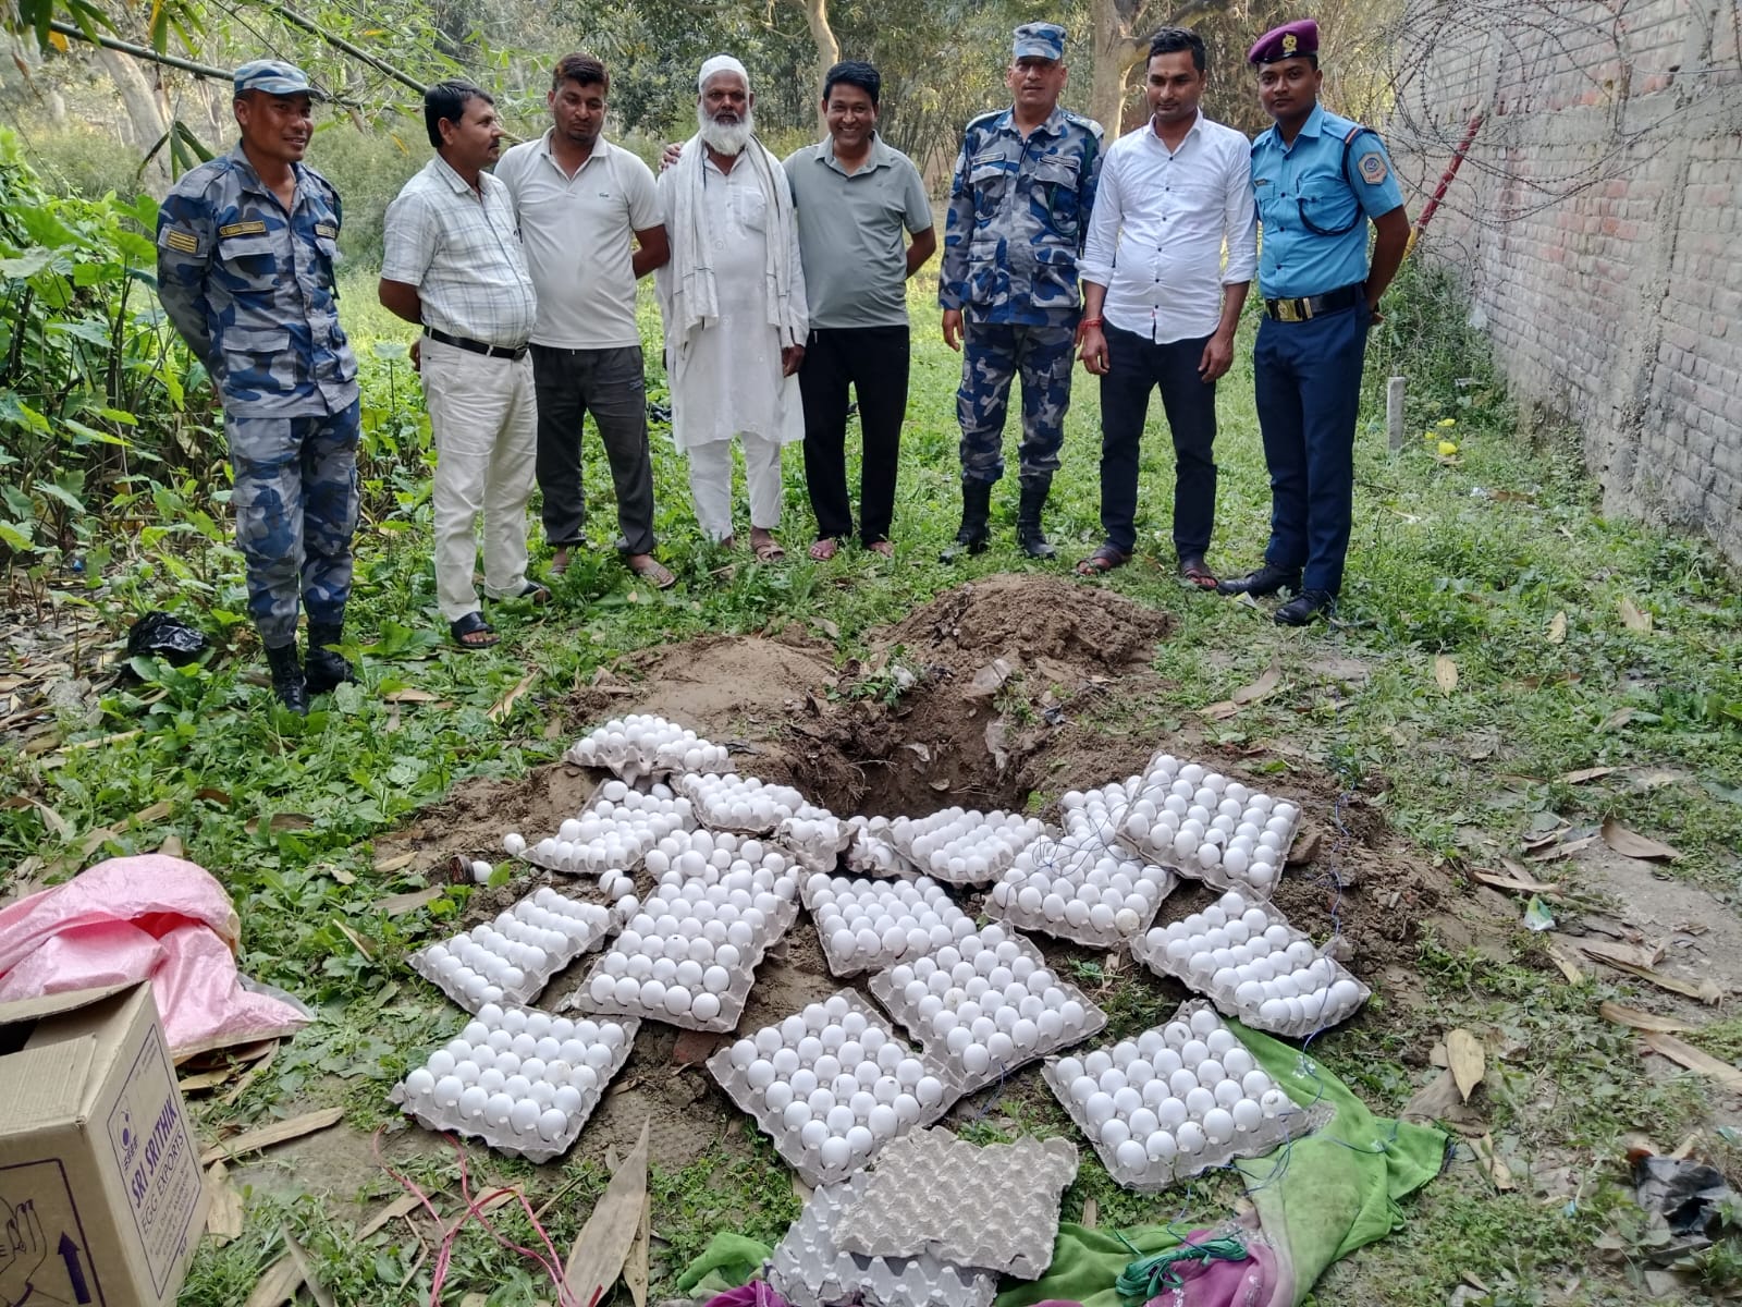
[[1005,80],[1012,105],[974,119],[949,192],[937,300],[944,342],[962,349],[960,551],[986,549],[991,488],[1003,476],[1010,380],[1023,376],[1021,507],[1016,538],[1030,558],[1054,549],[1040,511],[1059,467],[1082,301],[1082,253],[1101,171],[1101,127],[1059,108],[1064,28],[1016,30]]

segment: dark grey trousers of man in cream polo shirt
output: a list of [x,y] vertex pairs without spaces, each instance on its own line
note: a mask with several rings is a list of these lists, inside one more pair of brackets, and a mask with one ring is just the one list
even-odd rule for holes
[[538,488],[545,538],[585,540],[587,493],[580,483],[582,420],[592,413],[617,488],[618,547],[653,552],[653,453],[648,448],[646,382],[641,347],[564,350],[533,345],[538,397]]

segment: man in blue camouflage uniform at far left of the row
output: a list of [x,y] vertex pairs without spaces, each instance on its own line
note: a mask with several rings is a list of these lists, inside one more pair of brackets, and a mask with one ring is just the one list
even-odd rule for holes
[[223,396],[247,612],[294,713],[355,680],[333,647],[357,526],[357,361],[333,282],[338,192],[301,162],[314,96],[287,63],[237,68],[240,143],[181,178],[157,218],[157,293]]

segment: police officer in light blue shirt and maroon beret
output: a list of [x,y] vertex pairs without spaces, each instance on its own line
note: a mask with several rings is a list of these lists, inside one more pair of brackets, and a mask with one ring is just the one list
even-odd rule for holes
[[[1282,626],[1336,610],[1355,490],[1355,410],[1367,328],[1409,242],[1385,143],[1319,105],[1319,24],[1287,23],[1247,54],[1275,125],[1252,141],[1265,319],[1252,349],[1270,467],[1265,563],[1223,594],[1294,593]],[[1376,239],[1367,261],[1367,223]]]

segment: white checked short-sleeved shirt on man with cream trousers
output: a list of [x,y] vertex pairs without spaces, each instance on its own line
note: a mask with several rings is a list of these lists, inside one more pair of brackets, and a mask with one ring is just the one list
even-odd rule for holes
[[418,288],[423,326],[519,349],[538,300],[509,188],[490,173],[477,185],[465,185],[441,155],[430,159],[387,206],[381,277]]

